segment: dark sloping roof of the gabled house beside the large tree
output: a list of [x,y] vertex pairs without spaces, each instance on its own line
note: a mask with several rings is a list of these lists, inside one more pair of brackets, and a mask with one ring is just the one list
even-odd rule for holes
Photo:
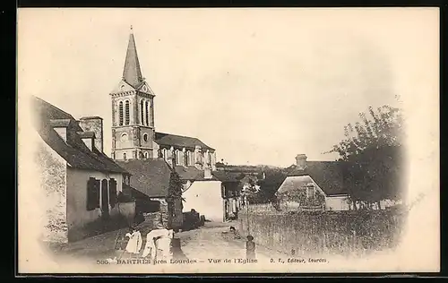
[[[344,185],[344,175],[342,167],[337,161],[306,161],[305,170],[299,170],[296,166],[291,166],[287,169],[288,177],[285,180],[305,180],[303,178],[290,178],[292,176],[310,176],[316,184],[327,195],[337,195],[348,193]],[[298,187],[299,184],[295,184]]]

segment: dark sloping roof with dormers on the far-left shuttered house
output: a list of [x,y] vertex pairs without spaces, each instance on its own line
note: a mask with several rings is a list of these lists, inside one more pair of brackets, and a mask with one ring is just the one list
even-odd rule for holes
[[[93,151],[89,150],[77,133],[83,131],[73,116],[36,97],[31,98],[31,103],[33,122],[40,137],[71,167],[100,172],[127,173],[103,152],[96,148]],[[55,123],[51,121],[65,121],[62,124],[71,127],[67,131],[67,142],[56,133],[53,129]]]

